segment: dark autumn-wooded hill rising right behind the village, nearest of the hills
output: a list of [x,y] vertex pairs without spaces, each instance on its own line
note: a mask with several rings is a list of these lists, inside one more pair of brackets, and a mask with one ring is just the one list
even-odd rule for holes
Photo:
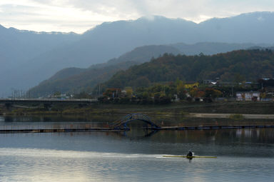
[[270,49],[239,50],[213,56],[185,56],[164,54],[158,59],[126,71],[119,71],[105,88],[123,88],[125,86],[149,86],[150,84],[220,78],[220,81],[256,81],[262,76],[273,77],[274,54]]

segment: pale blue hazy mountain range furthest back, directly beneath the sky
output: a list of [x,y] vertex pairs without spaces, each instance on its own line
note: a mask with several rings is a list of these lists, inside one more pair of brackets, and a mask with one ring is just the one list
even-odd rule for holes
[[[178,42],[238,43],[241,49],[257,45],[270,46],[274,42],[273,22],[272,12],[255,12],[225,19],[210,19],[201,24],[162,16],[116,21],[103,23],[81,35],[37,34],[0,26],[0,96],[9,95],[11,88],[28,89],[35,86],[60,69],[71,66],[87,68],[138,46],[173,44],[172,47],[181,54],[196,54],[203,50],[197,49],[197,46],[193,46],[193,49],[188,46],[187,50],[183,44],[176,46]],[[209,46],[204,48],[210,49]],[[238,49],[239,46],[234,48]],[[230,45],[230,49],[220,48],[217,52],[234,48]],[[214,51],[203,53],[214,54]]]

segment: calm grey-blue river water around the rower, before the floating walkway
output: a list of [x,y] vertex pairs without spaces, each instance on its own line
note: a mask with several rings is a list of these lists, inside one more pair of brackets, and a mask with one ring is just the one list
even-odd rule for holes
[[[29,121],[0,118],[1,127],[11,125]],[[132,127],[127,133],[0,134],[0,181],[274,181],[273,128],[149,133]],[[163,158],[189,149],[218,158]]]

